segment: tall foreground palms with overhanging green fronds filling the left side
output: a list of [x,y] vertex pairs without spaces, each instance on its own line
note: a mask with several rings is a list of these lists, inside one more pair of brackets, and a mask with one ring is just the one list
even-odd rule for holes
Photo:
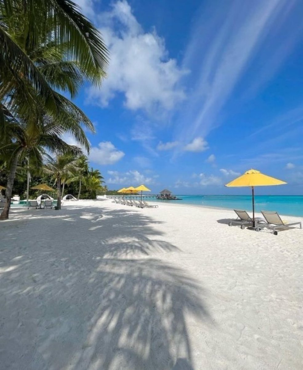
[[[74,98],[85,81],[100,86],[107,63],[99,31],[72,1],[0,0],[0,165],[6,173],[0,219],[8,218],[18,166],[41,168],[50,153],[76,160],[82,151],[63,140],[65,133],[89,152],[84,129],[94,132],[93,124],[66,94]],[[51,161],[45,171],[52,165],[55,171]],[[58,192],[66,174],[53,173]]]

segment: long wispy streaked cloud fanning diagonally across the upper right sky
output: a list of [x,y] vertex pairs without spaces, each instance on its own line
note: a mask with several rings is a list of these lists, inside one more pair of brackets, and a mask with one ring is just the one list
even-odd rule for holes
[[[235,87],[260,48],[266,49],[268,34],[284,24],[279,21],[295,3],[295,0],[244,3],[236,0],[221,1],[219,6],[212,3],[216,11],[203,8],[185,52],[184,67],[192,71],[194,79],[190,83],[194,88],[183,110],[187,113],[180,117],[177,139],[206,137],[221,123],[223,108]],[[208,36],[201,39],[200,35]],[[284,50],[287,55],[289,50]],[[271,58],[266,63],[270,61]],[[183,122],[190,123],[184,127]]]

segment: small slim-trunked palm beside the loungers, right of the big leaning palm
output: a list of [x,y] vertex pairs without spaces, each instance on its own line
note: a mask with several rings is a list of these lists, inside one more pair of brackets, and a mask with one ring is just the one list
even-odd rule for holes
[[58,155],[56,158],[50,158],[44,166],[45,174],[52,175],[57,183],[57,207],[61,209],[61,180],[75,171],[77,158],[70,154]]

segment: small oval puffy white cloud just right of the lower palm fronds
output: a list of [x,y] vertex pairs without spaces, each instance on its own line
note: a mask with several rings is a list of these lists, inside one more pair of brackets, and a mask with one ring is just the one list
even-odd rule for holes
[[123,157],[124,152],[116,149],[110,141],[100,142],[98,147],[90,149],[89,154],[89,160],[99,165],[114,164]]

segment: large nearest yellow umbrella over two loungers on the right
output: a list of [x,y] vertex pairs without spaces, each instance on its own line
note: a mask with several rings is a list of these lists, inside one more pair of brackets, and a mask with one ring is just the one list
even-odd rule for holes
[[250,169],[246,171],[243,175],[237,177],[233,181],[229,182],[225,186],[228,187],[241,187],[241,186],[251,186],[252,190],[252,221],[253,227],[255,228],[255,186],[271,186],[271,185],[283,185],[287,184],[285,181],[275,179],[274,177],[261,174],[260,171],[256,169]]

